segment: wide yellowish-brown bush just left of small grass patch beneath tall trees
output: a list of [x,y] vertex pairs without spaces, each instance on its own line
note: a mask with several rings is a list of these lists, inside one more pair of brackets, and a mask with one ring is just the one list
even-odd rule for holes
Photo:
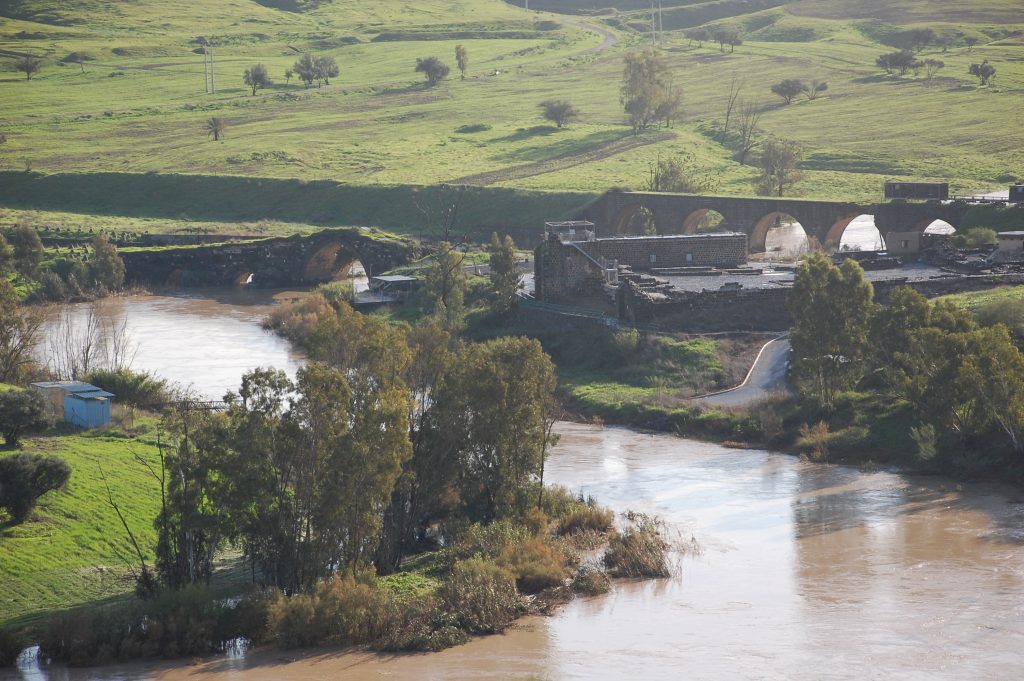
[[269,604],[267,632],[286,648],[355,645],[383,638],[394,616],[394,602],[375,581],[336,576],[311,594],[278,594]]

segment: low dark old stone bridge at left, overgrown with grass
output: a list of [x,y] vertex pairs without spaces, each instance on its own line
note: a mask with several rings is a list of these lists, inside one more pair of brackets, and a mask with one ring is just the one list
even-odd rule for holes
[[408,262],[412,243],[360,229],[248,242],[157,249],[122,249],[129,282],[153,286],[260,288],[314,286],[346,276],[359,261],[368,274]]

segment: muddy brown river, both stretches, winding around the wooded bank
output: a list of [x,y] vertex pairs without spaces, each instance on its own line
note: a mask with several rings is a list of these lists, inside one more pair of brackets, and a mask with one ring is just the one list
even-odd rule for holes
[[[300,358],[258,326],[270,300],[231,300],[123,301],[137,368],[173,367],[208,394],[251,366],[294,368]],[[1012,679],[1024,669],[1024,495],[622,428],[558,432],[548,480],[667,520],[690,548],[674,577],[618,583],[439,653],[27,663],[13,678]]]

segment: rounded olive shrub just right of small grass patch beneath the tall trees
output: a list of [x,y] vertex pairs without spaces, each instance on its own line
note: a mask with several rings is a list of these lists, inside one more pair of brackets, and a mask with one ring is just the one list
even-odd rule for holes
[[522,607],[512,576],[479,556],[455,564],[440,598],[455,624],[470,634],[504,631]]

